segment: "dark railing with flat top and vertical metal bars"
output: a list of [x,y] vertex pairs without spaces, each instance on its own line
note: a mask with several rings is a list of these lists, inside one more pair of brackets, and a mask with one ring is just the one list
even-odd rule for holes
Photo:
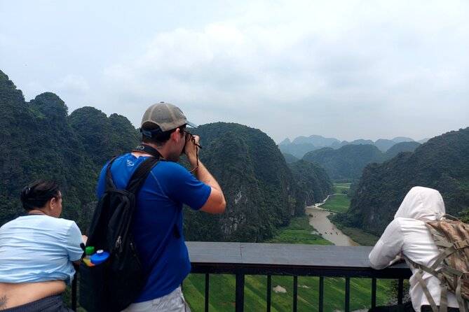
[[[271,311],[271,276],[293,276],[293,311],[297,311],[298,276],[319,277],[318,311],[324,311],[324,278],[345,278],[344,311],[350,311],[350,279],[371,278],[370,306],[376,306],[376,279],[393,278],[402,303],[403,281],[411,271],[405,263],[383,270],[369,267],[369,246],[320,246],[277,243],[186,242],[193,274],[205,274],[205,311],[209,308],[210,274],[236,276],[236,312],[244,311],[245,276],[267,276],[266,311]],[[76,287],[72,309],[76,308]]]

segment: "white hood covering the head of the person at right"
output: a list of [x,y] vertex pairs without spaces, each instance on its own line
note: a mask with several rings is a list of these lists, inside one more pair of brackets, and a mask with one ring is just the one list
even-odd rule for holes
[[444,203],[440,192],[432,188],[416,186],[405,195],[394,218],[436,220],[444,213]]

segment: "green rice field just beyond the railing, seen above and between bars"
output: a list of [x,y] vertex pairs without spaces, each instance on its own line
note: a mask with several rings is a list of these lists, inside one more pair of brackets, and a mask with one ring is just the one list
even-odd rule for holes
[[[290,225],[281,228],[266,243],[330,244],[322,236],[311,234],[307,216],[293,218]],[[365,278],[351,278],[351,311],[368,309],[371,305],[371,283]],[[379,280],[376,304],[390,299],[391,280]],[[266,276],[245,276],[245,311],[266,311]],[[292,311],[293,277],[272,276],[271,311]],[[184,281],[184,296],[193,312],[205,311],[205,275],[190,274]],[[277,290],[278,292],[276,292]],[[285,292],[284,292],[285,291]],[[235,311],[236,278],[233,275],[211,274],[209,311]],[[297,311],[318,311],[319,278],[298,277]],[[345,279],[324,278],[324,311],[344,311]]]

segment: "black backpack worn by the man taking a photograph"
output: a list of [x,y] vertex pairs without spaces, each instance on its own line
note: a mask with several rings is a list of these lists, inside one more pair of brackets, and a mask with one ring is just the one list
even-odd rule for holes
[[110,253],[102,264],[80,264],[80,305],[87,311],[121,311],[135,302],[147,283],[137,248],[132,239],[135,197],[158,158],[149,157],[132,174],[125,190],[118,190],[111,175],[111,159],[106,186],[97,203],[86,246]]

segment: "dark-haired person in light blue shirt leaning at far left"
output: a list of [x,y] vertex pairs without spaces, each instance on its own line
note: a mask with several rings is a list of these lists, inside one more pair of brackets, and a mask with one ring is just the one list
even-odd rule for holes
[[55,181],[31,183],[20,197],[27,215],[0,227],[0,310],[71,311],[61,294],[86,236],[74,221],[59,218],[62,193]]

